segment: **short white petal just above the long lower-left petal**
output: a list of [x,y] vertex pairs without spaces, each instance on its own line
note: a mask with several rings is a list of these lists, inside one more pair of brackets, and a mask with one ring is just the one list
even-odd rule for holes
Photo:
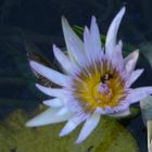
[[59,106],[64,105],[64,103],[58,98],[50,99],[50,100],[45,100],[42,103],[48,105],[48,106],[52,106],[52,107],[59,107]]

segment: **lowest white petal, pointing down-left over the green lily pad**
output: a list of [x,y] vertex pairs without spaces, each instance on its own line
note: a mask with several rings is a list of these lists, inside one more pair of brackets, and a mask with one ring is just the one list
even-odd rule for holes
[[99,121],[100,121],[100,114],[98,113],[92,114],[83,126],[83,129],[80,130],[76,143],[80,143],[81,141],[84,141],[97,127]]

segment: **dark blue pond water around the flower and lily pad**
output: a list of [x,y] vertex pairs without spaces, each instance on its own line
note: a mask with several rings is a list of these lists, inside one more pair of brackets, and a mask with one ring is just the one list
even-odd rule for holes
[[[151,0],[1,0],[0,1],[0,118],[16,109],[27,111],[36,107],[45,97],[35,88],[35,78],[26,56],[25,41],[37,46],[53,62],[52,43],[64,47],[61,16],[72,25],[89,25],[96,15],[102,34],[110,22],[126,4],[127,12],[118,37],[125,43],[140,48],[152,41]],[[138,63],[145,73],[135,84],[152,84],[148,61]],[[137,125],[138,124],[138,125]],[[131,121],[128,128],[137,138],[141,152],[147,151],[145,128],[141,117]]]

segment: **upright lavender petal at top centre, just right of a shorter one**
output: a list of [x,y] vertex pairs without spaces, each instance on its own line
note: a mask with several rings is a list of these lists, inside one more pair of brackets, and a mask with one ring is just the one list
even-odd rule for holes
[[99,33],[99,28],[98,28],[94,16],[92,16],[92,18],[91,18],[90,35],[91,35],[91,39],[92,39],[93,53],[97,56],[99,56],[99,54],[103,54],[103,51],[101,50],[100,33]]

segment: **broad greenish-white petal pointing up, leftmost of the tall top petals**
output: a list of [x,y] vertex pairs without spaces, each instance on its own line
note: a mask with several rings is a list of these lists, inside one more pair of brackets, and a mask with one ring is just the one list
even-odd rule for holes
[[[72,61],[75,61],[75,55],[77,54],[83,54],[84,53],[84,45],[83,41],[79,39],[79,37],[73,31],[71,28],[66,18],[63,16],[62,17],[62,27],[63,27],[63,33],[64,33],[64,38],[67,47],[67,51],[69,54],[69,58]],[[72,47],[72,41],[77,46],[77,52],[73,49]],[[77,54],[76,54],[77,53]]]

